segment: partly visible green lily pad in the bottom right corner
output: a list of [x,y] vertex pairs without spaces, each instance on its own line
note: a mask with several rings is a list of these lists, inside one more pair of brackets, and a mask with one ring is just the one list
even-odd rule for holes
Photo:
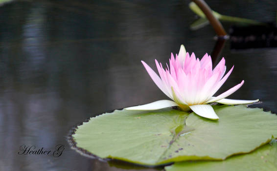
[[236,155],[224,161],[180,162],[166,171],[277,171],[277,142],[262,146],[249,154]]

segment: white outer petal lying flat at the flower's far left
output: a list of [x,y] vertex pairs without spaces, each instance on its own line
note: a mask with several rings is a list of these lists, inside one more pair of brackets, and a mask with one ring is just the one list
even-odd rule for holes
[[135,107],[126,107],[126,110],[157,110],[165,107],[174,107],[178,106],[177,103],[171,100],[159,100],[145,105],[135,106]]

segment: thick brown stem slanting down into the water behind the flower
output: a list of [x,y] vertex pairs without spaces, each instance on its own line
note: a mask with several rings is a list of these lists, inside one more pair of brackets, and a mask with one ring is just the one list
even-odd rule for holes
[[215,18],[212,14],[211,9],[209,8],[208,4],[204,0],[192,0],[197,6],[203,11],[206,15],[208,21],[210,22],[211,26],[213,27],[215,33],[218,36],[226,36],[226,31],[224,30],[222,24]]

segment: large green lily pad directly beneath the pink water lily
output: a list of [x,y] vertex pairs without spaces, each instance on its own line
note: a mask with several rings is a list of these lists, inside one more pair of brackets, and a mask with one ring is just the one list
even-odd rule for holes
[[224,160],[248,153],[277,137],[277,116],[260,108],[213,106],[218,121],[165,108],[115,110],[78,126],[77,148],[101,158],[142,165],[185,160]]

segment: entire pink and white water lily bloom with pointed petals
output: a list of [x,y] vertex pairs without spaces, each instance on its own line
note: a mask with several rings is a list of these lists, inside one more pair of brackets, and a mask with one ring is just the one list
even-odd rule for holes
[[[196,114],[217,120],[218,116],[215,114],[213,108],[207,105],[211,102],[218,102],[226,105],[250,104],[258,102],[259,100],[232,100],[225,99],[243,85],[244,81],[235,85],[228,91],[213,97],[214,93],[224,84],[233,67],[224,76],[226,71],[225,59],[217,64],[212,70],[211,57],[206,53],[204,57],[199,60],[196,59],[194,53],[189,56],[185,52],[184,45],[181,45],[180,52],[174,59],[171,54],[169,59],[169,67],[162,68],[162,64],[155,60],[160,77],[143,61],[141,61],[147,70],[148,74],[155,82],[155,84],[167,95],[170,100],[160,100],[146,105],[127,107],[129,110],[155,110],[164,107],[179,106],[182,110],[193,110]],[[224,77],[223,77],[224,76]]]

